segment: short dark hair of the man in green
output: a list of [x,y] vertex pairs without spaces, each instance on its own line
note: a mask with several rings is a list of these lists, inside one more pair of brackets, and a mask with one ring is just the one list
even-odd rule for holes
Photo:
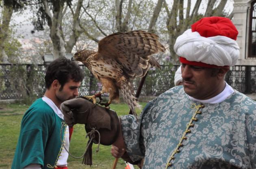
[[65,57],[60,57],[50,63],[44,80],[46,89],[50,89],[54,80],[58,80],[62,88],[69,79],[75,82],[82,82],[84,78],[85,74],[78,64]]

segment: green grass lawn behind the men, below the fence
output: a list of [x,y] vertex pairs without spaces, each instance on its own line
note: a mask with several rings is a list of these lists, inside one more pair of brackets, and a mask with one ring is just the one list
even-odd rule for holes
[[[146,103],[140,103],[142,108]],[[20,133],[20,122],[22,116],[29,106],[20,104],[0,104],[0,169],[10,169],[15,153],[17,140]],[[111,104],[112,110],[120,115],[128,114],[129,108],[126,104]],[[137,110],[140,112],[140,110]],[[74,156],[81,156],[85,152],[87,139],[85,139],[84,125],[74,126],[74,132],[70,142],[70,153]],[[111,155],[111,146],[100,145],[100,151],[95,152],[97,145],[93,144],[93,165],[82,164],[82,158],[75,159],[69,156],[69,169],[111,169],[115,158]],[[124,161],[119,159],[117,169],[124,169]],[[136,167],[137,168],[137,167]],[[137,168],[138,169],[138,168]]]

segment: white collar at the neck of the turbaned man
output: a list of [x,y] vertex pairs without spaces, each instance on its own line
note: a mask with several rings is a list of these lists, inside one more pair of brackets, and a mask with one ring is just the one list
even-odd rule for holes
[[199,101],[201,103],[216,104],[216,103],[220,103],[221,101],[224,101],[232,93],[234,93],[234,89],[230,85],[228,85],[228,83],[226,83],[225,89],[215,97],[212,97],[206,100],[200,100],[200,99],[195,99],[194,97],[189,96],[189,99]]

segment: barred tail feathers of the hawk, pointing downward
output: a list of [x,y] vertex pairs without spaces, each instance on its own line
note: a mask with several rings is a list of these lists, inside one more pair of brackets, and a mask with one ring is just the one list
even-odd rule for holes
[[137,103],[134,97],[133,87],[128,79],[121,81],[121,95],[124,98],[124,102],[128,104],[129,108],[132,110],[132,114],[137,118],[135,108],[140,108],[141,106]]

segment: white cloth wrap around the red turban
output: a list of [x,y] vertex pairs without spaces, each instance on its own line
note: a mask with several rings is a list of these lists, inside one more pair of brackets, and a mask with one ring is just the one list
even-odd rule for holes
[[226,36],[205,38],[198,32],[186,30],[174,44],[178,56],[188,61],[203,62],[217,66],[234,66],[239,58],[237,42]]

